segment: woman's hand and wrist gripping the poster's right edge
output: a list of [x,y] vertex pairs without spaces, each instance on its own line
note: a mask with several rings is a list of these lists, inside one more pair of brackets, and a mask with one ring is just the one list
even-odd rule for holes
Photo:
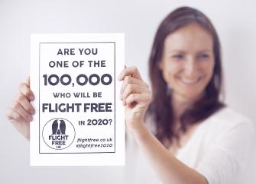
[[144,122],[144,114],[151,101],[151,91],[136,67],[125,68],[118,80],[123,81],[120,100],[125,106],[126,126],[132,131]]

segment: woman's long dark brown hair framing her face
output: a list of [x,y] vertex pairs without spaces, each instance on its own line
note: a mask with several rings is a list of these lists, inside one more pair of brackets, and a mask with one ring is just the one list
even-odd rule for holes
[[212,79],[206,86],[205,94],[197,100],[193,106],[186,109],[180,116],[179,132],[186,132],[189,125],[203,121],[215,113],[218,109],[225,106],[219,101],[219,95],[222,87],[222,66],[219,36],[208,17],[201,11],[190,7],[181,7],[172,11],[164,21],[160,23],[157,33],[154,37],[154,43],[151,49],[149,59],[149,74],[152,87],[152,101],[147,108],[146,117],[153,118],[156,127],[156,137],[165,145],[170,146],[173,138],[179,140],[177,132],[173,130],[173,110],[171,106],[170,93],[167,93],[167,83],[164,81],[162,71],[158,67],[161,61],[164,40],[175,30],[188,24],[196,23],[207,30],[213,39],[213,52],[215,56],[215,66],[213,69]]

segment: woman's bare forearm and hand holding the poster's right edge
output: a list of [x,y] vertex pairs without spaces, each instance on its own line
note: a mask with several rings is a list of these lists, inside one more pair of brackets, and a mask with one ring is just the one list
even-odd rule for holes
[[151,101],[151,92],[138,69],[125,68],[118,79],[123,81],[120,100],[125,106],[125,123],[128,131],[137,141],[160,180],[168,184],[207,184],[201,174],[177,160],[148,131],[143,121],[144,113]]

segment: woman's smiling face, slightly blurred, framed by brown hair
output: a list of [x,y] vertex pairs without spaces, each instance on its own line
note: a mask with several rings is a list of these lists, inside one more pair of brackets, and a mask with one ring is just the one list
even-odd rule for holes
[[189,24],[166,37],[159,67],[174,97],[196,100],[212,78],[214,61],[212,35]]

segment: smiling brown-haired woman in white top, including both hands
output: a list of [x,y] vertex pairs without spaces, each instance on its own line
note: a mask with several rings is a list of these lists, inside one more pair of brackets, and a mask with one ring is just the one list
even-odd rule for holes
[[[149,62],[152,95],[135,67],[125,68],[118,79],[128,132],[157,178],[232,183],[245,166],[254,128],[219,100],[220,44],[209,19],[194,8],[171,12],[157,30]],[[20,92],[8,118],[29,138],[34,114],[29,80]]]

